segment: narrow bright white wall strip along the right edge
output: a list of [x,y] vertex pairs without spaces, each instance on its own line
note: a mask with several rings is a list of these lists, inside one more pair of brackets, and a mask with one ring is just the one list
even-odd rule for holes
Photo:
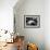
[[45,1],[45,42],[46,50],[50,50],[50,0]]

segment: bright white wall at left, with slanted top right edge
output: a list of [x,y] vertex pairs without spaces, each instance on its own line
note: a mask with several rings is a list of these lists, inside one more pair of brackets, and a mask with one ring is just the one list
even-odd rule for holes
[[0,0],[0,29],[13,30],[13,7],[17,0]]

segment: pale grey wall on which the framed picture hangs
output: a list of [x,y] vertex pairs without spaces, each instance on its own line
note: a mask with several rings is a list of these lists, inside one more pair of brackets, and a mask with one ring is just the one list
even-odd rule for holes
[[[45,50],[43,13],[43,0],[24,0],[23,3],[14,7],[16,34],[24,35],[26,42],[36,43],[39,50]],[[24,15],[40,15],[40,28],[24,28]]]

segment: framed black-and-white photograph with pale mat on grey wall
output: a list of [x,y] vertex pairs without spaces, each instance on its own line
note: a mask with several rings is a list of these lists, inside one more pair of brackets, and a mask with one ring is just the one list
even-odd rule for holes
[[24,15],[24,27],[25,28],[39,28],[40,15]]

